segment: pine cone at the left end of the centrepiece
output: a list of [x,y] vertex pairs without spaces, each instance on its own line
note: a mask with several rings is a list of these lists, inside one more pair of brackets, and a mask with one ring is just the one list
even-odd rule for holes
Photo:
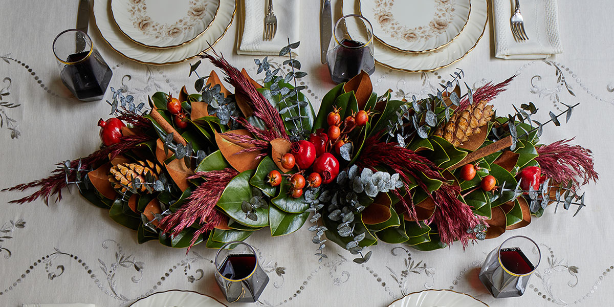
[[[109,181],[113,187],[121,193],[125,193],[129,188],[134,188],[137,192],[150,193],[143,183],[152,184],[154,181],[157,181],[160,171],[160,165],[149,160],[137,161],[136,163],[120,163],[111,168]],[[138,182],[141,183],[138,188],[133,187],[133,179],[135,181],[138,179]],[[149,181],[147,179],[149,179]]]

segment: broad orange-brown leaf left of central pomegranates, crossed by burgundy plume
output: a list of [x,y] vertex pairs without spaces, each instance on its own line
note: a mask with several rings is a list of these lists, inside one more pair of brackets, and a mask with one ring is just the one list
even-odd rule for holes
[[[235,168],[239,173],[247,171],[248,169],[257,168],[258,163],[260,163],[260,160],[262,160],[263,158],[258,158],[258,155],[262,153],[262,150],[236,154],[243,149],[254,147],[254,145],[236,142],[234,139],[231,139],[228,136],[224,136],[223,134],[217,133],[217,131],[214,131],[214,133],[216,134],[216,143],[217,147],[219,147],[220,149],[220,152],[222,152],[222,155],[224,156],[224,158],[226,158],[228,163],[230,163],[230,165]],[[244,129],[231,130],[227,133],[252,136],[249,131]]]

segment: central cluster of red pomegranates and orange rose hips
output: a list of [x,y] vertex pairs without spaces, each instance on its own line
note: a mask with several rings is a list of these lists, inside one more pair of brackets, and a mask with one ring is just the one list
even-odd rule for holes
[[[357,126],[367,125],[368,120],[368,112],[359,111],[341,122],[339,110],[334,109],[327,117],[329,125],[327,133],[324,133],[324,129],[319,129],[309,136],[309,141],[293,142],[290,152],[282,155],[279,161],[282,168],[296,167],[298,173],[286,175],[276,170],[271,171],[267,182],[276,187],[281,184],[282,177],[289,177],[288,193],[293,198],[302,196],[305,187],[317,188],[321,184],[329,184],[339,174],[339,160],[329,151],[332,151],[334,147],[335,152],[340,155],[341,146],[347,142],[347,138],[341,138],[341,136],[348,134]],[[309,168],[311,168],[311,173],[306,172]],[[306,173],[309,175],[305,178]]]

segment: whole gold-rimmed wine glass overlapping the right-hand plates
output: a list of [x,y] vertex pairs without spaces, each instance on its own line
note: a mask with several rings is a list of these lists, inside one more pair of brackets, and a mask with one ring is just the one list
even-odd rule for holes
[[337,20],[326,59],[335,83],[348,82],[361,70],[373,74],[373,27],[367,18],[352,14]]

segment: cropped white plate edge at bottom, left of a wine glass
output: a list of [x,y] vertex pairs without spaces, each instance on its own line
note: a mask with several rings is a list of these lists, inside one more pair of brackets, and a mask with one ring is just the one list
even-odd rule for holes
[[227,307],[213,297],[187,290],[168,290],[141,298],[130,307]]

